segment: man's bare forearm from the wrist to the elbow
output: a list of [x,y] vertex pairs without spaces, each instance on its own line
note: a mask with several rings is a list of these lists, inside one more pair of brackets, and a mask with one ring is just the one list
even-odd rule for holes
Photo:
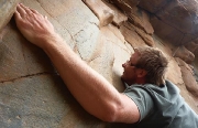
[[87,111],[101,118],[108,107],[119,100],[118,90],[82,62],[61,38],[52,39],[47,44],[44,51],[70,93]]

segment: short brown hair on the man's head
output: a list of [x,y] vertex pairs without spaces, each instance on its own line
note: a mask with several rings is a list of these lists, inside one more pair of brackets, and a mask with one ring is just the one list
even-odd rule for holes
[[146,83],[157,86],[165,83],[165,73],[167,71],[168,61],[164,53],[157,49],[143,46],[135,49],[140,53],[136,67],[147,72]]

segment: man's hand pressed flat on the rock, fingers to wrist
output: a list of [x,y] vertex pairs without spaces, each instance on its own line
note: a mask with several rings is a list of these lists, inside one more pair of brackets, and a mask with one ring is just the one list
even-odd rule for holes
[[46,17],[22,3],[18,4],[14,18],[24,38],[40,47],[46,45],[47,40],[56,35],[54,26]]

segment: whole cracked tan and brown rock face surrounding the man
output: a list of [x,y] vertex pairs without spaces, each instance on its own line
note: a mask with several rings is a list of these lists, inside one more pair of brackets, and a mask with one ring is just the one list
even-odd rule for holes
[[[0,17],[4,18],[3,23],[0,21],[0,127],[113,127],[85,111],[67,90],[46,54],[22,36],[10,20],[16,2],[0,1]],[[193,40],[197,36],[195,1],[21,2],[47,15],[75,53],[119,92],[124,89],[120,79],[121,64],[129,60],[133,49],[144,45],[161,49],[169,58],[167,79],[179,87],[182,96],[198,114],[198,43]],[[191,25],[188,28],[188,24]]]

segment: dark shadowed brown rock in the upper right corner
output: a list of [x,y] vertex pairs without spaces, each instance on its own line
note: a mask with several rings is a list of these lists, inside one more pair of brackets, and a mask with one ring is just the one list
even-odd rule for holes
[[[198,3],[196,0],[141,0],[139,6],[157,17],[158,20],[152,22],[152,25],[156,33],[160,31],[161,38],[176,45],[186,44],[197,38]],[[162,31],[163,29],[166,31]],[[172,35],[178,40],[175,38],[172,40],[169,38]]]

